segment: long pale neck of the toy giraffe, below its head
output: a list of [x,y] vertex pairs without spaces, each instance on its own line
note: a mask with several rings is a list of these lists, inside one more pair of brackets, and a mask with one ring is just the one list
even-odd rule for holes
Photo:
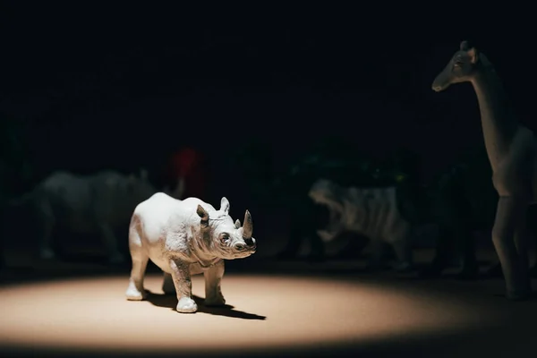
[[482,55],[472,84],[479,102],[485,147],[492,170],[507,156],[518,123],[492,64]]

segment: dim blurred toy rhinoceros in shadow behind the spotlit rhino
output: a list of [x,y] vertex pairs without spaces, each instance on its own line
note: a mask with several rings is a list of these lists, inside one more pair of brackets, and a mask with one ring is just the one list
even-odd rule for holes
[[72,234],[97,234],[108,252],[109,263],[124,262],[115,229],[128,226],[132,210],[157,190],[147,172],[123,175],[112,170],[95,175],[58,171],[49,175],[30,193],[12,200],[14,206],[30,205],[37,216],[38,255],[54,259],[53,229],[61,226]]

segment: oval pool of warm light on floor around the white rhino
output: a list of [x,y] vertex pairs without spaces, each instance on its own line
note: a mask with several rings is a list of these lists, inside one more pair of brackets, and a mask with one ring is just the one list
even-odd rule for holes
[[[124,297],[128,277],[92,277],[6,286],[0,346],[118,352],[263,350],[365,342],[482,325],[486,314],[449,296],[359,281],[226,275],[233,308],[175,311],[162,277],[149,275],[148,301]],[[193,294],[204,297],[202,276]]]

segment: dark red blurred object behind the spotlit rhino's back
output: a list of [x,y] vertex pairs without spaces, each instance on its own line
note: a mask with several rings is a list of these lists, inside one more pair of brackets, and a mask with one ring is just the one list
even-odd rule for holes
[[166,183],[175,190],[178,180],[184,180],[184,192],[181,198],[196,197],[203,200],[206,187],[206,171],[203,155],[192,148],[183,148],[172,155],[168,165]]

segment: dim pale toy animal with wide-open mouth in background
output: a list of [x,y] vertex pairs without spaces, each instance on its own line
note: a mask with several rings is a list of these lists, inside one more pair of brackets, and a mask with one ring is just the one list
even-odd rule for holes
[[363,234],[371,239],[371,267],[379,266],[383,243],[394,248],[397,270],[412,267],[411,226],[397,209],[395,187],[345,188],[320,179],[311,186],[309,196],[328,207],[328,227],[317,232],[325,243],[345,231]]

